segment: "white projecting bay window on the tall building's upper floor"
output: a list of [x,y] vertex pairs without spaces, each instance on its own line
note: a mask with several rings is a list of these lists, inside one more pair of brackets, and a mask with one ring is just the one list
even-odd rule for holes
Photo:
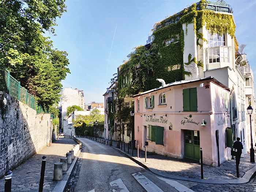
[[228,46],[215,46],[206,49],[207,68],[206,70],[227,67],[230,65],[230,53]]

